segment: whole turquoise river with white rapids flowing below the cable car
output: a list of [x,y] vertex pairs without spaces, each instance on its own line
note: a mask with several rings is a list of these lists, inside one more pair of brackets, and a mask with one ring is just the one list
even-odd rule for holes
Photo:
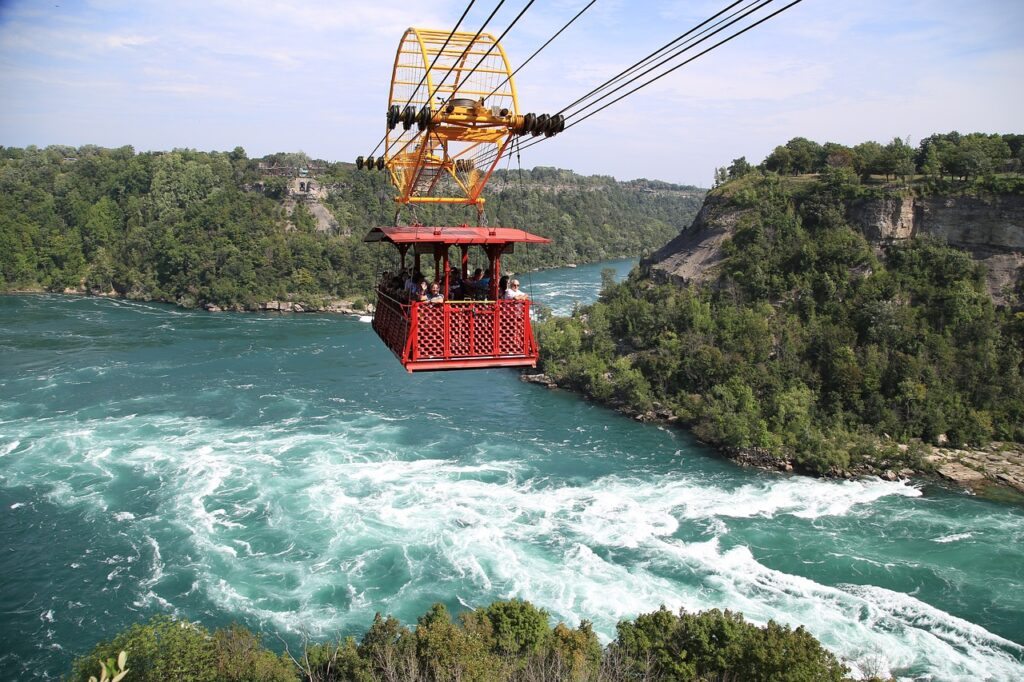
[[[600,268],[524,284],[565,313]],[[519,597],[605,639],[720,607],[854,674],[1024,679],[1020,507],[738,468],[512,371],[407,375],[355,317],[0,297],[0,576],[11,678],[160,612],[273,644]]]

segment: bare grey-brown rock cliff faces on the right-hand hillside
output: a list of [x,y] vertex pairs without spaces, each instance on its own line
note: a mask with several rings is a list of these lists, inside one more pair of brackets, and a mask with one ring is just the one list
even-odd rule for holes
[[[693,224],[643,261],[658,281],[702,283],[717,276],[721,245],[748,211],[709,195]],[[988,270],[988,289],[1002,305],[1020,305],[1024,276],[1024,197],[902,197],[862,199],[847,220],[879,247],[920,236],[968,251]]]

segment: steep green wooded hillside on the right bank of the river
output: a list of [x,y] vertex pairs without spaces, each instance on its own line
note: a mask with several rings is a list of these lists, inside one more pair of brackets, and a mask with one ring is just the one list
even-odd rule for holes
[[[936,147],[956,150],[933,138],[916,153],[895,141],[909,166],[889,182],[892,169],[864,165],[858,147],[803,138],[759,168],[733,162],[708,198],[727,220],[692,228],[725,236],[711,269],[689,284],[606,283],[597,304],[541,326],[545,372],[659,409],[727,452],[820,472],[922,465],[895,441],[1024,440],[1024,313],[994,305],[968,253],[932,239],[872,244],[846,219],[879,193],[1019,193],[1012,145],[961,139],[980,137],[999,147],[980,174],[930,167]],[[1019,136],[1005,137],[1019,155]],[[778,165],[790,147],[808,151],[806,166]]]

